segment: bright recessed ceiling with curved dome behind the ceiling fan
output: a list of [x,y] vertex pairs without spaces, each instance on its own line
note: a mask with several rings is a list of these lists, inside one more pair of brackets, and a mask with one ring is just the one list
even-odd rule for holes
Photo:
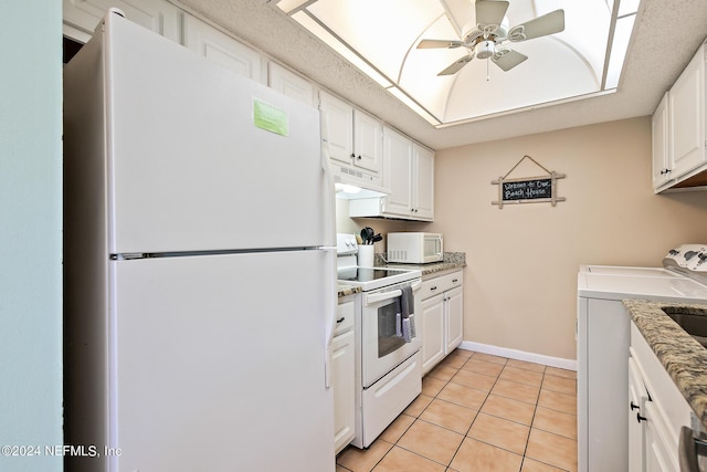
[[[281,0],[277,6],[432,125],[444,126],[615,90],[639,1]],[[456,46],[469,31],[496,30],[497,20],[490,27],[476,18],[476,7],[483,13],[488,6],[500,9],[505,32],[558,14],[560,32],[499,44],[499,51],[528,57],[505,72],[495,61],[474,56],[472,48]],[[418,49],[429,39],[455,48]],[[460,60],[465,65],[458,72],[439,75]]]

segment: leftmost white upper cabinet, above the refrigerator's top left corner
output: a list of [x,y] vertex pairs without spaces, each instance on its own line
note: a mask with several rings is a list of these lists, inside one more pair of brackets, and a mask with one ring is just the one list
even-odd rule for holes
[[62,0],[64,35],[87,42],[109,8],[118,8],[128,20],[181,43],[182,12],[166,0]]

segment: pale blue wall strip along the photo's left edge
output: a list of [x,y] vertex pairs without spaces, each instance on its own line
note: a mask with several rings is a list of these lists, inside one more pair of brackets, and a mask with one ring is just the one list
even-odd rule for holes
[[57,0],[0,2],[0,447],[63,443],[61,24]]

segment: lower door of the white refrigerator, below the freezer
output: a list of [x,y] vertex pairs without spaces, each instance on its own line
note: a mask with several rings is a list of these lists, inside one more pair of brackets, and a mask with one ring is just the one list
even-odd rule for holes
[[110,470],[333,471],[333,256],[113,262]]

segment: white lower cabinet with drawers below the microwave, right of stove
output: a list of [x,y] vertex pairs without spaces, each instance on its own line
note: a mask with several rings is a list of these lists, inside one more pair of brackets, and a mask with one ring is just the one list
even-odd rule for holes
[[462,271],[422,282],[422,303],[415,311],[422,328],[422,371],[429,373],[462,343],[464,328]]

